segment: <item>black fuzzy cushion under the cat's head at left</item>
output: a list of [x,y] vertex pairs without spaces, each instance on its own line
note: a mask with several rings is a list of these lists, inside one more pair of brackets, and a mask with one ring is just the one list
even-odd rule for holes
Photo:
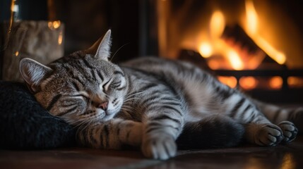
[[74,146],[75,134],[42,108],[25,84],[0,81],[0,149]]

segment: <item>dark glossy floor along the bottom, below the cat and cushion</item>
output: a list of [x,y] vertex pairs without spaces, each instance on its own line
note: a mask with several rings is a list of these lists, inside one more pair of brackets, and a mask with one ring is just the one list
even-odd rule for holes
[[0,150],[1,169],[90,168],[303,168],[303,136],[292,144],[275,147],[252,145],[229,149],[179,151],[168,161],[144,158],[139,151],[52,149],[44,151]]

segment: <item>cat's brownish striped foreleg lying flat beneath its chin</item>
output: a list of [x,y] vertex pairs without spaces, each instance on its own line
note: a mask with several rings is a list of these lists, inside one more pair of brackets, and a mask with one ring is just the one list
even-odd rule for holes
[[81,125],[78,128],[78,142],[97,149],[120,149],[122,145],[140,146],[142,123],[113,118],[107,122]]

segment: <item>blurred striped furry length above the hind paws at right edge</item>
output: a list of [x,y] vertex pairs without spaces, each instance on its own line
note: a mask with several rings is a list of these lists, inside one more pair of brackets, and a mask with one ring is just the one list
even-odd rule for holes
[[266,115],[268,120],[277,125],[282,121],[290,121],[298,128],[299,133],[303,134],[303,107],[283,108],[273,104],[266,104],[261,101],[254,101],[260,111]]

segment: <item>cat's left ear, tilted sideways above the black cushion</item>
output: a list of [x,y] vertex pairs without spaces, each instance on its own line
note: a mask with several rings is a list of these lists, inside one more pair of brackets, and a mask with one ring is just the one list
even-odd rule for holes
[[40,84],[41,80],[47,73],[52,72],[51,68],[30,58],[21,59],[19,70],[23,80],[25,80],[32,92],[37,92],[37,86]]

